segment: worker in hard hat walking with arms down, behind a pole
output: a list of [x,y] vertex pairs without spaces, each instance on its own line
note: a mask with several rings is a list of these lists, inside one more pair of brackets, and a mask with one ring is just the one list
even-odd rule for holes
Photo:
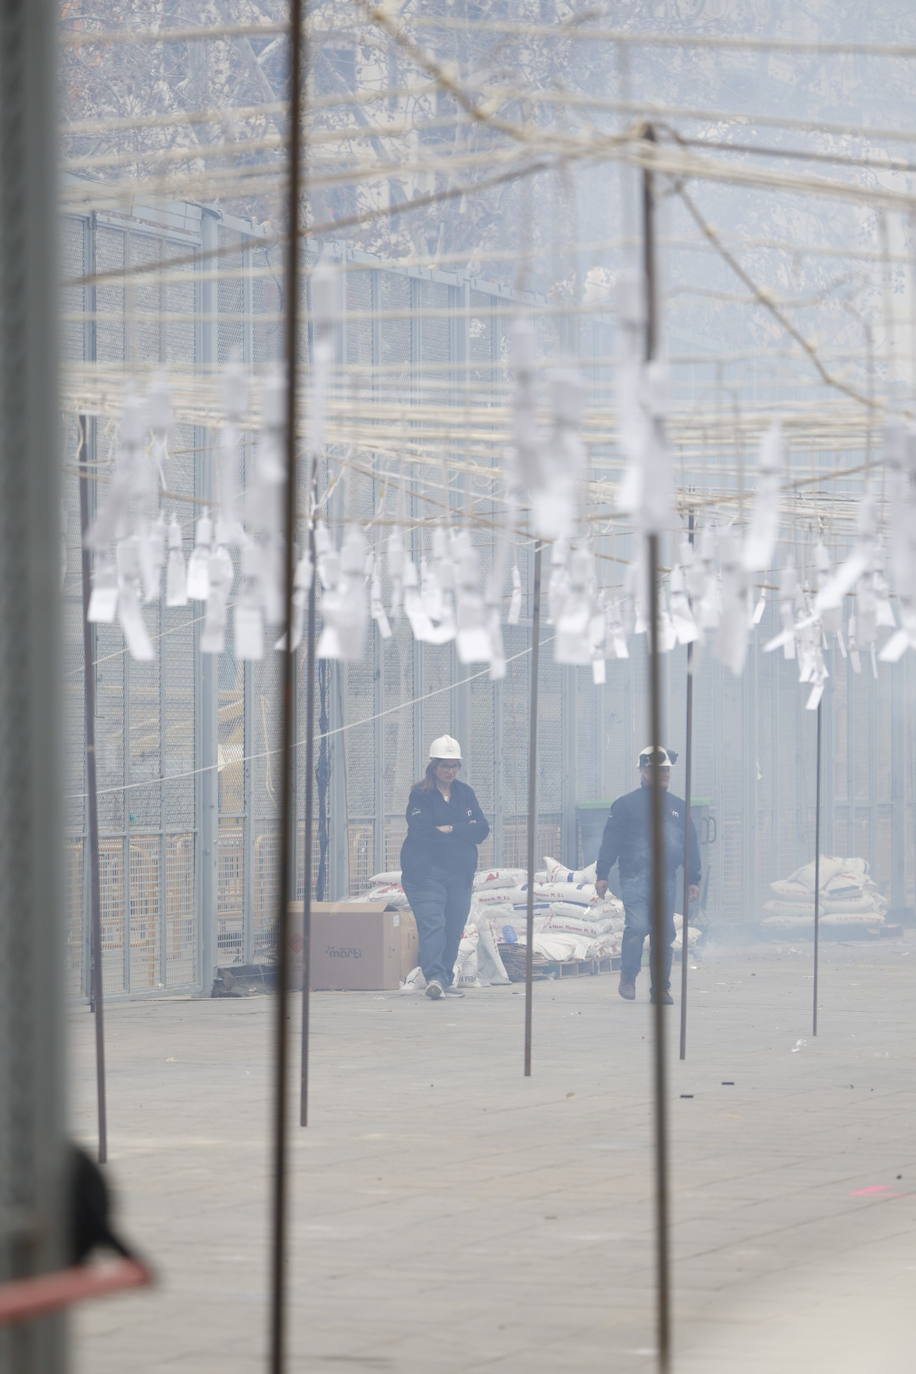
[[[658,996],[667,1006],[674,1000],[670,993],[672,945],[674,943],[674,900],[677,870],[684,863],[684,826],[687,824],[687,896],[696,901],[700,889],[700,853],[694,822],[687,815],[687,807],[680,797],[672,796],[669,783],[672,764],[677,763],[673,749],[647,745],[641,750],[637,765],[640,785],[636,791],[618,797],[604,826],[602,849],[595,866],[595,889],[599,897],[607,893],[607,875],[619,866],[621,899],[626,921],[621,949],[621,982],[618,992],[628,1002],[636,998],[636,977],[643,966],[643,945],[652,925],[652,785],[658,782],[662,797],[662,834],[665,841],[665,892],[663,925],[665,985],[652,988],[652,1002]],[[650,967],[654,965],[650,962]]]

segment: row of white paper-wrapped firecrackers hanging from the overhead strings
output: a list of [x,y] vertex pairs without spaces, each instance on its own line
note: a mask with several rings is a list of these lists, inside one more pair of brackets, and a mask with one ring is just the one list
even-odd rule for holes
[[[321,337],[328,333],[332,309],[323,306],[332,300],[332,275],[313,273],[316,354],[309,404],[319,409],[323,444],[327,441],[330,415],[330,363],[324,357]],[[628,287],[621,298],[621,331],[632,328]],[[530,333],[530,326],[525,323]],[[514,348],[529,345],[520,331]],[[323,360],[324,357],[324,360]],[[618,367],[618,431],[623,452],[643,423],[639,415],[637,386],[663,387],[659,375],[634,381],[632,361]],[[533,378],[533,368],[529,370]],[[509,569],[507,532],[518,523],[519,492],[527,493],[533,526],[551,547],[549,614],[558,627],[555,660],[560,664],[591,666],[593,680],[606,680],[607,658],[629,654],[628,638],[647,629],[644,573],[640,558],[626,574],[622,588],[602,585],[600,559],[593,548],[592,507],[584,496],[582,480],[586,444],[593,436],[581,429],[584,392],[580,378],[569,371],[548,376],[551,396],[549,440],[533,447],[516,434],[514,459],[501,484],[505,518],[486,521],[471,514],[455,529],[452,517],[420,518],[427,532],[427,552],[419,567],[404,545],[404,526],[417,523],[398,517],[401,526],[390,528],[390,517],[350,522],[341,547],[334,545],[331,529],[323,522],[316,528],[319,573],[321,577],[321,647],[320,657],[353,661],[364,654],[369,622],[385,638],[397,620],[401,605],[413,638],[422,643],[456,642],[463,662],[485,662],[490,675],[501,673],[503,607],[509,595],[507,574],[511,572],[508,624],[516,614],[520,589],[516,569]],[[544,387],[529,383],[531,396]],[[227,642],[229,609],[235,616],[235,654],[257,660],[265,653],[269,627],[279,627],[283,616],[280,530],[282,500],[282,416],[284,387],[279,374],[261,378],[260,436],[249,486],[238,486],[240,416],[247,401],[244,374],[229,363],[222,379],[224,420],[218,433],[218,482],[211,504],[195,521],[194,545],[185,563],[184,532],[173,497],[163,485],[170,433],[172,401],[165,378],[154,376],[147,396],[128,386],[114,440],[111,480],[102,488],[99,510],[89,539],[95,548],[89,618],[93,622],[118,622],[130,655],[139,661],[155,657],[155,639],[144,622],[143,606],[162,595],[165,567],[165,606],[180,607],[199,602],[205,610],[201,636],[203,653],[222,653]],[[512,427],[533,426],[538,430],[537,408],[530,415],[515,407]],[[249,422],[250,423],[250,422]],[[629,436],[629,438],[628,438]],[[676,644],[711,640],[715,657],[740,675],[751,636],[765,611],[765,587],[770,577],[779,543],[781,482],[786,473],[786,445],[779,425],[761,440],[759,481],[753,499],[744,539],[721,517],[706,515],[698,522],[696,541],[684,545],[677,565],[663,577],[661,587],[659,650]],[[858,504],[858,539],[840,565],[831,570],[825,548],[814,548],[808,563],[816,569],[816,587],[799,583],[792,558],[783,562],[780,573],[780,614],[783,629],[766,643],[768,650],[781,647],[784,657],[798,662],[799,679],[809,683],[809,709],[816,709],[827,672],[818,647],[818,633],[836,635],[842,654],[849,650],[854,671],[860,671],[862,650],[872,672],[879,662],[897,661],[908,647],[916,647],[916,555],[912,550],[913,497],[912,449],[909,426],[890,426],[886,440],[889,496],[889,543],[882,537],[882,500],[879,480],[872,475],[865,500]],[[551,462],[545,460],[551,453]],[[558,462],[559,459],[559,462]],[[341,458],[341,470],[363,470],[352,448]],[[378,459],[368,460],[378,471]],[[578,474],[578,478],[577,478]],[[643,477],[630,460],[623,469],[617,495],[618,511],[632,517],[640,497]],[[500,480],[490,470],[488,482],[500,497]],[[647,484],[655,492],[658,484]],[[394,484],[397,489],[397,484]],[[592,482],[592,502],[603,499],[603,485]],[[427,500],[435,499],[427,482]],[[652,496],[651,499],[658,499]],[[709,497],[680,497],[681,504],[700,510]],[[441,506],[445,503],[439,503]],[[825,519],[839,519],[839,508]],[[843,517],[845,519],[845,517]],[[470,541],[470,528],[493,529],[496,548],[489,570]],[[375,525],[375,529],[374,529]],[[839,525],[836,526],[839,528]],[[371,540],[375,540],[372,544]],[[823,545],[823,540],[820,541]],[[385,548],[385,556],[383,556]],[[898,627],[891,606],[886,565],[890,563],[893,592],[901,614]],[[806,565],[808,566],[808,565]],[[293,643],[302,638],[305,603],[309,596],[312,561],[302,551],[295,570]],[[757,584],[757,585],[754,585]],[[236,589],[238,588],[238,589]],[[840,609],[846,596],[853,599],[853,613],[846,624]],[[367,606],[368,603],[368,606]],[[882,644],[879,632],[893,633]],[[276,636],[271,636],[276,638]],[[283,647],[280,638],[277,647]]]

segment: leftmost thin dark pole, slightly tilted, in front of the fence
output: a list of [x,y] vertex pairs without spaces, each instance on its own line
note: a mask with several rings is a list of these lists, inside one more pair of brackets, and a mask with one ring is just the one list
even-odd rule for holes
[[88,620],[92,567],[89,563],[89,469],[87,418],[80,415],[80,534],[82,541],[82,709],[87,745],[87,840],[89,845],[89,930],[92,949],[92,1011],[95,1014],[95,1069],[99,1113],[99,1164],[108,1158],[108,1112],[104,1079],[104,988],[102,977],[102,899],[99,893],[99,796],[95,765],[95,633]]

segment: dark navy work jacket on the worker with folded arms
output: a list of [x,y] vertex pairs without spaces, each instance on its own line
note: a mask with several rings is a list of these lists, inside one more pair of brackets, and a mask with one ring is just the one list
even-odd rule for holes
[[[452,826],[449,834],[437,826]],[[474,789],[457,779],[446,801],[438,787],[411,789],[407,804],[407,838],[401,845],[401,872],[411,879],[426,878],[431,868],[466,877],[477,868],[477,846],[490,833]]]

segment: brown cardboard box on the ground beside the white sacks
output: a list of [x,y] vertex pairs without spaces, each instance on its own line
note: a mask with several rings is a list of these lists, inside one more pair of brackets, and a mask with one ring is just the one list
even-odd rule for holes
[[[302,903],[290,903],[293,958],[302,985]],[[298,919],[297,919],[298,918]],[[313,901],[310,987],[313,991],[385,992],[416,965],[411,911],[385,901]]]

